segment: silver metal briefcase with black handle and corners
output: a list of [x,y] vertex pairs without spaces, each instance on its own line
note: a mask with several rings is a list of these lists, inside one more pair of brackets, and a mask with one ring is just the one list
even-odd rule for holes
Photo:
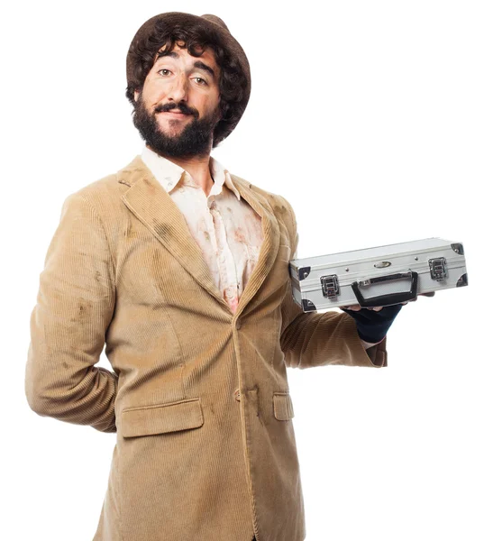
[[462,243],[439,237],[289,261],[292,295],[305,312],[386,307],[468,285]]

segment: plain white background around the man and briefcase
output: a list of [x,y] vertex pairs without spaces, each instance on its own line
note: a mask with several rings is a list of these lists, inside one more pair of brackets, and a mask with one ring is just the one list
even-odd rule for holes
[[30,410],[29,317],[64,199],[142,150],[125,57],[168,11],[217,14],[246,51],[251,100],[213,155],[288,198],[298,257],[464,244],[469,287],[403,307],[387,368],[288,370],[306,541],[482,541],[484,9],[465,0],[2,8],[0,537],[96,530],[115,435]]

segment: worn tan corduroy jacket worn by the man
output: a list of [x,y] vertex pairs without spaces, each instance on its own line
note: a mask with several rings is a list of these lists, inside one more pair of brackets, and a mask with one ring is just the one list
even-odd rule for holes
[[62,207],[25,391],[41,416],[116,433],[94,541],[302,541],[286,369],[387,365],[351,316],[297,306],[292,207],[232,178],[264,230],[235,314],[139,155]]

